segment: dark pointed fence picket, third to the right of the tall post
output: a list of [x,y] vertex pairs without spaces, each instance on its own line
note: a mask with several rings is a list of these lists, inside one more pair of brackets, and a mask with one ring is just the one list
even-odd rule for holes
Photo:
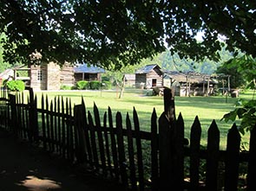
[[215,120],[208,130],[207,137],[207,175],[206,188],[209,191],[218,190],[218,162],[220,150],[220,131]]

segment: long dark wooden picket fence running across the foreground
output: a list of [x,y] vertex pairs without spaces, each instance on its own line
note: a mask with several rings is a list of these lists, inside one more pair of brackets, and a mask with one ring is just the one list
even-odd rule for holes
[[[174,97],[164,90],[160,118],[152,112],[149,131],[141,131],[137,112],[115,117],[108,108],[102,120],[97,106],[87,111],[70,99],[42,96],[41,107],[30,89],[23,93],[2,92],[0,125],[16,137],[36,143],[83,170],[115,180],[131,190],[256,190],[256,130],[251,131],[250,150],[240,151],[235,124],[220,150],[220,131],[213,120],[207,131],[207,148],[200,147],[201,127],[196,117],[190,137],[184,137],[184,121],[176,119]],[[240,168],[246,166],[246,181]],[[187,167],[188,166],[188,167]]]

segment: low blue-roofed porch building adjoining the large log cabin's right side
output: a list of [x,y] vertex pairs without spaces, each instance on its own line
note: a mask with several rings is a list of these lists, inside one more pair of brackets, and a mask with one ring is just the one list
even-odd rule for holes
[[105,70],[101,67],[89,66],[87,64],[77,65],[74,67],[75,82],[80,80],[93,81],[102,80],[102,73]]

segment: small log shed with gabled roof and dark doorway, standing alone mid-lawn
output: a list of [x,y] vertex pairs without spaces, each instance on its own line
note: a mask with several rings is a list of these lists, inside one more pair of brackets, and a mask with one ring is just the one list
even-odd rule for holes
[[158,65],[148,65],[135,72],[135,86],[137,88],[152,88],[163,86],[163,73]]

